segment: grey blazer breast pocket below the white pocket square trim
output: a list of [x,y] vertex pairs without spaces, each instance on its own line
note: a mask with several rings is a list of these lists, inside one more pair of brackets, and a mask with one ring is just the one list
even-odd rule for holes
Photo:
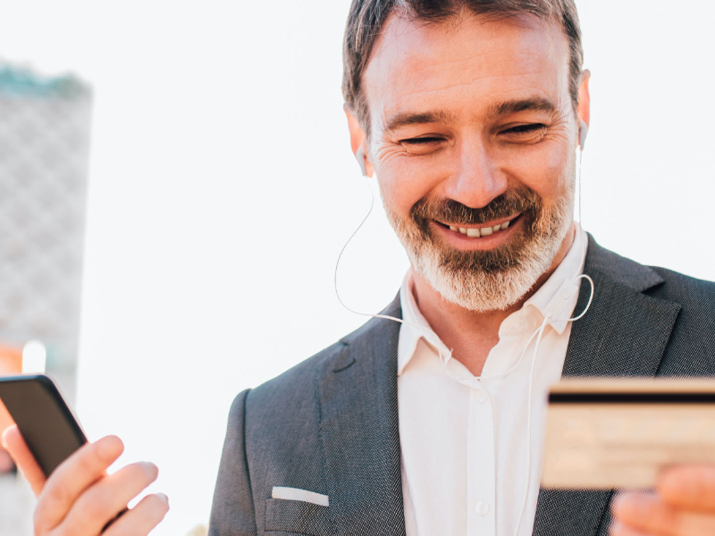
[[329,509],[329,506],[314,505],[312,502],[267,499],[266,532],[330,536]]

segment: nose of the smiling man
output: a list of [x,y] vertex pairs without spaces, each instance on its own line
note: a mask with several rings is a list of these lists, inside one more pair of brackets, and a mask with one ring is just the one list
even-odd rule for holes
[[444,192],[450,199],[479,209],[506,191],[506,174],[500,171],[479,134],[460,139],[454,159],[455,169]]

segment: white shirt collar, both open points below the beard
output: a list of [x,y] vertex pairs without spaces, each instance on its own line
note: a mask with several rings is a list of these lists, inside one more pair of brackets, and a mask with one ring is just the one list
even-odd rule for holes
[[[523,304],[520,310],[526,307],[535,307],[542,317],[548,317],[551,327],[563,334],[571,317],[573,307],[578,299],[579,280],[583,274],[583,263],[586,259],[588,237],[581,226],[576,225],[576,239],[568,249],[566,257],[556,267],[551,277]],[[576,281],[574,282],[574,279]],[[398,342],[398,376],[403,373],[410,359],[415,354],[415,349],[423,339],[435,352],[447,362],[451,357],[451,350],[445,346],[440,338],[433,332],[432,327],[420,312],[413,294],[413,271],[408,269],[400,287],[400,307],[402,307],[403,324],[400,327]]]

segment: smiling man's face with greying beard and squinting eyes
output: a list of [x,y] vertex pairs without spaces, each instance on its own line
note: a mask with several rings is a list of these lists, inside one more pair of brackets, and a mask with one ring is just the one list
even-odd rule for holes
[[363,84],[370,164],[418,274],[467,309],[516,303],[571,226],[578,126],[562,29],[393,14]]

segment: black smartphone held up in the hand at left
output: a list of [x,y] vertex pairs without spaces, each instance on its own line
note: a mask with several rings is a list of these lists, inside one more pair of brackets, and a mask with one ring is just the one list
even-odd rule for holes
[[54,383],[42,374],[0,377],[0,400],[46,477],[87,442]]

